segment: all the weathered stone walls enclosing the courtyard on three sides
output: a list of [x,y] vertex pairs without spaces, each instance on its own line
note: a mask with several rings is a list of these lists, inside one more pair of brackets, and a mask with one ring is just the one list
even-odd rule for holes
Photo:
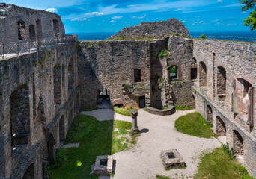
[[0,42],[0,179],[47,178],[76,114],[100,98],[196,108],[256,177],[255,46],[192,40],[177,19],[78,42],[57,14],[4,3]]

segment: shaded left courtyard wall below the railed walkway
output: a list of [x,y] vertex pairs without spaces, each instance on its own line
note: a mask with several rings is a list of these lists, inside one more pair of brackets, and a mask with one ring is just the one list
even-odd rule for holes
[[[70,61],[73,63],[72,88],[68,85]],[[59,86],[54,84],[55,66],[61,66]],[[54,100],[56,87],[59,87],[60,104],[55,104]],[[24,96],[23,93],[27,95]],[[22,98],[19,98],[20,95]],[[10,106],[15,104],[21,107]],[[37,171],[36,178],[42,178],[42,161],[51,160],[50,157],[54,157],[55,149],[60,144],[59,119],[64,116],[64,134],[67,134],[78,110],[76,43],[1,60],[0,178],[21,178],[33,163],[32,166]],[[19,130],[19,122],[16,121],[25,120],[17,115],[24,111],[28,120],[22,123],[22,128],[27,128],[26,131]],[[16,145],[15,141],[25,142]],[[52,150],[51,154],[48,152],[47,142]]]

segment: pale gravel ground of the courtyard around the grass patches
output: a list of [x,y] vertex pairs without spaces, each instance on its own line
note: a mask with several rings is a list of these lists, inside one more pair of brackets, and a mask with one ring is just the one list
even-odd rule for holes
[[[104,112],[104,113],[103,113]],[[116,160],[115,179],[147,179],[156,178],[156,174],[171,178],[192,178],[197,172],[199,157],[203,151],[219,147],[218,139],[204,139],[177,132],[175,120],[195,110],[177,111],[171,116],[156,116],[144,110],[138,111],[138,128],[144,132],[138,136],[137,144],[128,151],[114,154]],[[107,111],[94,110],[82,114],[109,120]],[[110,113],[110,111],[109,111]],[[131,122],[127,116],[113,112],[112,119]],[[162,165],[160,153],[163,150],[177,149],[186,162],[186,169],[166,171]]]

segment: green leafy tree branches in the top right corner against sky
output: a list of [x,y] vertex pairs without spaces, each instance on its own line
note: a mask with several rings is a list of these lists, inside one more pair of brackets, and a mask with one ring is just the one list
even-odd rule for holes
[[246,10],[254,10],[252,13],[250,13],[250,16],[244,20],[244,24],[246,26],[250,26],[251,31],[256,29],[256,7],[255,3],[256,0],[239,0],[240,4],[245,4],[244,7],[242,7],[242,11]]

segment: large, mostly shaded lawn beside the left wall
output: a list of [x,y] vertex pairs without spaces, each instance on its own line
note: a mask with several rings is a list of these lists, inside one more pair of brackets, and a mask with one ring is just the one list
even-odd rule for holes
[[67,134],[65,143],[79,142],[79,148],[61,148],[58,167],[49,167],[49,178],[98,178],[90,175],[97,155],[114,154],[132,147],[135,136],[129,135],[130,122],[103,121],[79,114]]

